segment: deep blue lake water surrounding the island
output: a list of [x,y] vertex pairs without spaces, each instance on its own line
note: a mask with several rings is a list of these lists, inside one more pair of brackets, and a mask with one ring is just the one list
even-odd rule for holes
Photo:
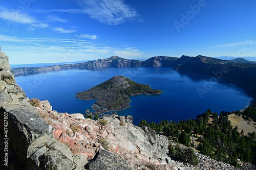
[[[66,69],[42,74],[16,77],[16,83],[28,98],[48,100],[53,110],[68,113],[93,111],[95,101],[81,101],[76,93],[88,90],[114,76],[124,76],[137,83],[148,84],[163,90],[159,95],[132,96],[130,105],[118,115],[132,115],[134,124],[141,119],[159,123],[162,119],[193,119],[207,109],[221,111],[240,110],[249,105],[252,98],[239,86],[222,80],[207,83],[207,75],[177,71],[172,68],[108,68],[105,70]],[[198,89],[201,91],[201,95]]]

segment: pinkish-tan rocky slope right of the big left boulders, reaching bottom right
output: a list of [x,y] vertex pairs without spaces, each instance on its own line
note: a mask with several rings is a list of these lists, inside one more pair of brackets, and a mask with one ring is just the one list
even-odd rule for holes
[[[167,155],[170,141],[150,128],[133,125],[132,116],[92,120],[82,114],[52,111],[48,101],[37,109],[52,125],[53,137],[68,145],[73,154],[86,158],[88,169],[238,169],[200,153],[196,153],[197,166],[174,161]],[[250,163],[245,167],[255,169]]]

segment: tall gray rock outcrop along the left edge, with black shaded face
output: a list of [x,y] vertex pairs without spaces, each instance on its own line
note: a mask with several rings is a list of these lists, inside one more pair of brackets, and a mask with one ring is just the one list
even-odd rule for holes
[[[26,93],[15,83],[8,59],[0,51],[1,157],[8,153],[0,169],[6,165],[13,169],[84,169],[86,159],[72,156],[66,145],[55,140],[52,126],[30,105]],[[48,101],[41,107],[52,109]],[[2,141],[8,141],[8,152]]]

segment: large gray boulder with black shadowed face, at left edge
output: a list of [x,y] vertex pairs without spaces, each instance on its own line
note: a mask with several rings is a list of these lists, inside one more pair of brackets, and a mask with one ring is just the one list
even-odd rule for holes
[[[8,114],[9,143],[19,157],[26,161],[27,149],[37,138],[48,134],[52,136],[52,126],[39,116],[34,106],[3,106],[1,113]],[[2,115],[3,116],[3,115]]]

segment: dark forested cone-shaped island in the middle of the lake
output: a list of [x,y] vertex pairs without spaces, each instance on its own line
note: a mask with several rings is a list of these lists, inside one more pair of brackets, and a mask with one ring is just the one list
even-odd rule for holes
[[149,85],[136,83],[123,76],[115,76],[89,90],[76,93],[76,98],[97,100],[94,105],[96,111],[102,111],[104,108],[119,111],[131,107],[129,96],[161,92],[161,90],[152,89]]

